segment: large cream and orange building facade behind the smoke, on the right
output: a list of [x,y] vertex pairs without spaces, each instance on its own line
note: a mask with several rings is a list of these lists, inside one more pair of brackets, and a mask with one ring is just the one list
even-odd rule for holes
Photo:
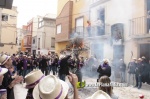
[[97,59],[149,60],[149,5],[150,0],[59,0],[56,51],[78,36]]

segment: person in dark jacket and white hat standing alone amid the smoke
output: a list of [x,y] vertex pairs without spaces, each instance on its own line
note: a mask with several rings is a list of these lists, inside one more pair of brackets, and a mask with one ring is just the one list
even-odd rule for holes
[[97,72],[99,73],[99,78],[97,79],[97,82],[101,78],[101,76],[104,76],[104,75],[106,75],[108,77],[111,76],[111,67],[109,66],[108,59],[103,60],[103,64],[99,65]]

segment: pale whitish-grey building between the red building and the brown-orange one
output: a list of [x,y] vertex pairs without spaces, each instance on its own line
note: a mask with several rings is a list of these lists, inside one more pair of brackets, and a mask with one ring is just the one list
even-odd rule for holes
[[33,41],[37,45],[36,54],[55,52],[55,30],[56,19],[50,14],[38,18],[37,36],[34,37],[35,41]]

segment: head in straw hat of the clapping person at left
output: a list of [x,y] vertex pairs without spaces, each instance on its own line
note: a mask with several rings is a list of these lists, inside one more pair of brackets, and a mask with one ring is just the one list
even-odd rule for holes
[[10,68],[12,66],[12,59],[10,56],[2,55],[0,56],[0,63],[4,65],[6,68]]

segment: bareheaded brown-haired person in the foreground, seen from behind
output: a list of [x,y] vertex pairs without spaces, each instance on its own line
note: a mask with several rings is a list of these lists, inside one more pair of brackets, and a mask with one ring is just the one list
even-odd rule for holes
[[[101,84],[109,84],[111,83],[111,80],[109,79],[108,76],[102,76],[99,79],[99,82]],[[104,92],[106,92],[107,94],[109,94],[110,96],[112,95],[112,86],[99,86],[99,90],[102,90]]]

